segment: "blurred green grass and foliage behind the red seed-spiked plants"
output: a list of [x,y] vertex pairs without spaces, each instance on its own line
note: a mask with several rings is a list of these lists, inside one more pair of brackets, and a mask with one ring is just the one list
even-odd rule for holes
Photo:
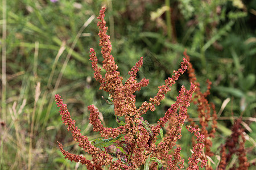
[[[222,117],[213,151],[219,154],[232,133],[233,118],[242,115],[247,158],[255,163],[256,1],[2,0],[1,67],[6,67],[6,79],[1,72],[0,169],[86,169],[65,160],[57,147],[60,141],[69,152],[84,154],[62,124],[55,94],[90,139],[99,137],[89,125],[90,104],[100,109],[106,126],[117,126],[113,106],[101,97],[108,99],[109,94],[98,90],[89,61],[90,47],[102,61],[97,36],[101,6],[107,7],[112,54],[124,79],[144,56],[138,79],[150,79],[150,84],[136,92],[138,105],[179,68],[187,49],[202,90],[207,79],[213,82],[208,100]],[[187,75],[154,113],[144,115],[150,124],[163,117],[182,84],[189,87]],[[193,105],[189,114],[197,117]],[[178,144],[185,160],[191,155],[190,138],[184,129]],[[212,159],[217,164],[217,156]],[[237,162],[236,157],[232,160]]]

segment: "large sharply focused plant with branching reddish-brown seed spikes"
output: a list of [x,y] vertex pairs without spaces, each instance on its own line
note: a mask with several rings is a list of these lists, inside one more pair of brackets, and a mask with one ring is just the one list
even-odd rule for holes
[[[117,71],[118,66],[111,54],[112,45],[110,36],[106,34],[108,27],[106,27],[104,20],[104,12],[105,7],[102,7],[98,16],[100,21],[97,25],[100,28],[98,35],[100,36],[101,54],[104,58],[102,69],[106,70],[105,76],[101,75],[101,68],[97,65],[98,59],[93,48],[90,48],[90,60],[92,61],[94,78],[101,84],[100,90],[109,93],[109,99],[114,105],[114,114],[119,126],[117,128],[105,128],[99,119],[100,112],[98,109],[94,105],[89,105],[90,124],[93,125],[93,131],[98,131],[101,135],[101,138],[89,141],[89,138],[82,135],[81,130],[75,126],[76,121],[71,118],[63,99],[56,95],[55,100],[60,107],[63,123],[68,126],[68,131],[72,132],[73,139],[79,143],[79,146],[92,156],[92,160],[65,151],[63,145],[59,143],[61,152],[66,159],[85,164],[88,169],[103,169],[104,167],[110,169],[184,168],[184,159],[180,155],[181,147],[176,147],[176,142],[181,138],[181,128],[187,118],[187,108],[196,86],[191,83],[189,90],[182,86],[176,103],[171,105],[164,117],[160,118],[155,126],[150,126],[146,120],[143,120],[142,115],[146,114],[147,111],[155,111],[155,106],[160,105],[167,92],[171,90],[172,85],[186,71],[189,65],[188,60],[183,58],[180,69],[174,71],[174,75],[158,87],[158,93],[137,108],[134,92],[141,90],[149,83],[148,79],[143,78],[138,82],[136,78],[139,68],[143,65],[143,57],[129,71],[130,77],[123,83],[123,78]],[[121,117],[125,121],[121,121]],[[168,135],[163,137],[162,128],[171,117],[174,118],[174,123],[168,130]],[[199,163],[199,158],[202,158],[205,137],[198,128],[192,126],[186,128],[196,137],[196,144],[193,146],[187,169],[199,169],[199,165],[204,167],[207,163],[206,159]],[[156,145],[159,134],[162,141]]]

